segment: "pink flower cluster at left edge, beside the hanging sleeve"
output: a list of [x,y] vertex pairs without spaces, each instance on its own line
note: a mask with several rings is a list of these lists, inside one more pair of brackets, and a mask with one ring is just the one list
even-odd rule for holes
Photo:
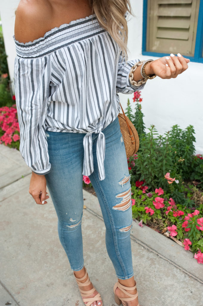
[[0,108],[0,143],[19,150],[20,128],[15,105]]

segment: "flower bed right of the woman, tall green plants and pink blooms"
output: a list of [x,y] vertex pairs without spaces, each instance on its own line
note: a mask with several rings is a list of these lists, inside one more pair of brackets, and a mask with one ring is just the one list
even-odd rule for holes
[[181,241],[203,263],[203,156],[194,154],[194,128],[174,125],[159,135],[151,125],[146,133],[140,96],[134,93],[134,115],[129,100],[126,109],[140,138],[139,151],[128,159],[133,218]]

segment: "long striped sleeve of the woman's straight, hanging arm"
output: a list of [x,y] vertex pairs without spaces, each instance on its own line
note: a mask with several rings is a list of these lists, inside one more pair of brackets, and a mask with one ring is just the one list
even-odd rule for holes
[[20,126],[20,153],[32,171],[50,172],[45,119],[50,83],[50,58],[16,57],[14,85]]

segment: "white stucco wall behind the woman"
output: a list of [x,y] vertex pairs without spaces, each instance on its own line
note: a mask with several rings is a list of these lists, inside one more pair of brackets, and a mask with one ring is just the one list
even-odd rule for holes
[[[19,0],[0,0],[0,15],[11,80],[15,60],[15,45],[12,37],[15,21],[14,11],[18,3]],[[151,58],[142,55],[143,2],[131,0],[131,4],[136,17],[131,17],[129,21],[129,59]],[[131,95],[120,95],[124,108],[128,97],[132,101]],[[190,62],[187,71],[176,79],[161,80],[156,77],[154,80],[148,80],[142,91],[142,98],[146,127],[154,124],[158,132],[163,134],[175,124],[178,124],[182,129],[188,125],[194,125],[196,152],[203,153],[203,64]]]

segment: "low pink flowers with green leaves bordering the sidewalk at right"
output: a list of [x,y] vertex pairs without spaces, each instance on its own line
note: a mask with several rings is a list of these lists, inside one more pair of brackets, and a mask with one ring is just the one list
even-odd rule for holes
[[133,218],[140,221],[140,226],[145,223],[162,234],[169,233],[183,243],[185,250],[195,253],[198,263],[203,263],[203,203],[194,202],[193,207],[186,207],[176,203],[161,187],[145,193],[144,188],[148,186],[143,186],[144,182],[136,183],[138,187],[132,184]]

